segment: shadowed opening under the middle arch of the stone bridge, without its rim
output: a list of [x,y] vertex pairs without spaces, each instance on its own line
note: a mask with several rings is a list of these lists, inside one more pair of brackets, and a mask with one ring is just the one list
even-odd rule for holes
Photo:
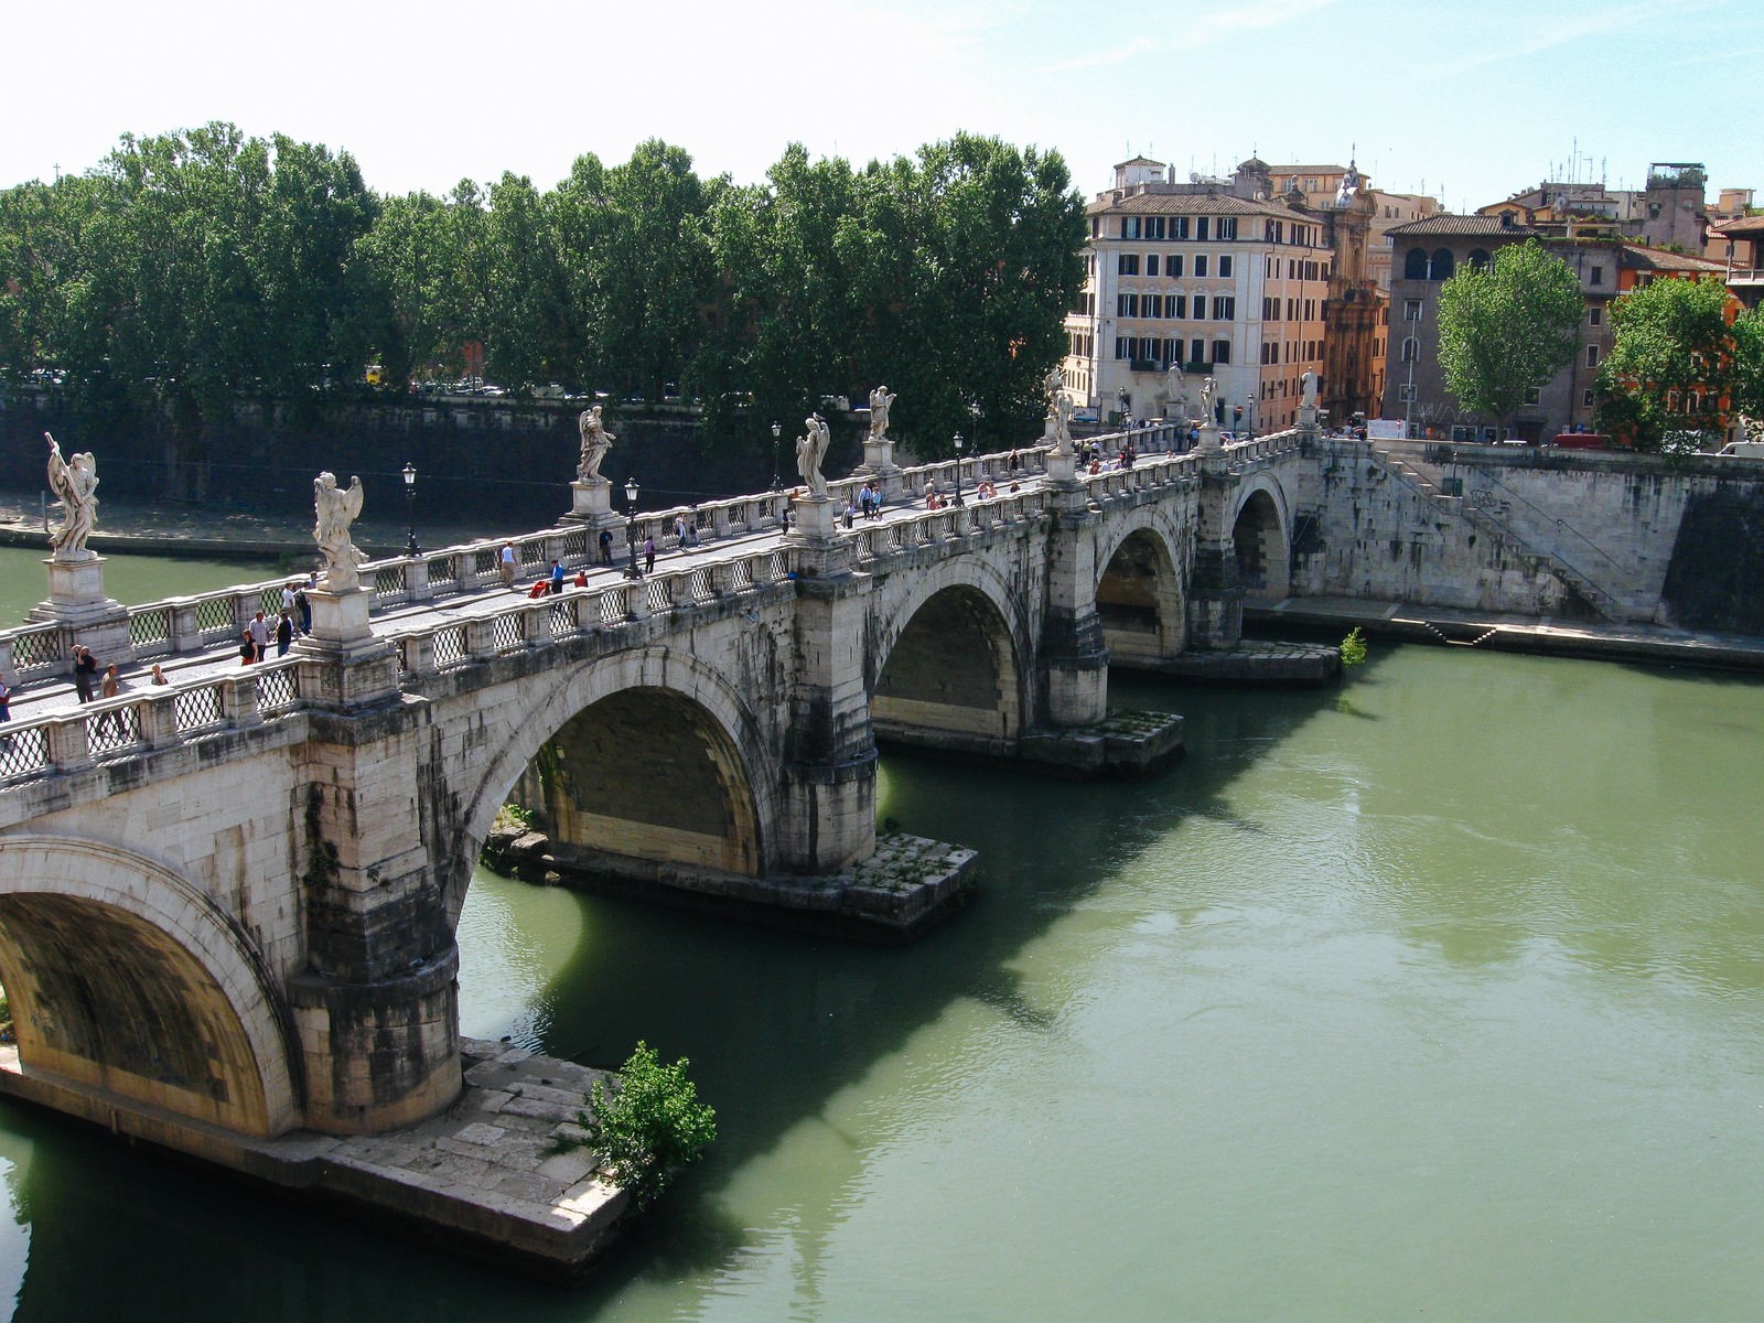
[[870,718],[880,737],[1009,751],[1025,720],[1021,649],[977,582],[910,600],[882,628]]

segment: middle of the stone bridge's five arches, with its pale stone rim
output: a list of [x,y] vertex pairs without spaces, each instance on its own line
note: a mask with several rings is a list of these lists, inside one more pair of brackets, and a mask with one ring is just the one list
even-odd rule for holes
[[864,654],[877,732],[995,750],[1014,743],[1034,711],[1025,670],[1034,653],[1016,600],[997,568],[961,557],[877,612]]

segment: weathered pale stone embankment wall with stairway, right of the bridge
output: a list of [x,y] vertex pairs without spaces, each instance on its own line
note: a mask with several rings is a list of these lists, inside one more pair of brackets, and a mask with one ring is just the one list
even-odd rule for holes
[[1764,635],[1764,464],[1314,443],[1291,593]]

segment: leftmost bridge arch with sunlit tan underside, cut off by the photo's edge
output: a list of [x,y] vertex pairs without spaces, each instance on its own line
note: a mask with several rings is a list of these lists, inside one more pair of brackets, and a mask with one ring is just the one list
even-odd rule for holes
[[164,864],[71,836],[0,840],[0,986],[26,1073],[254,1136],[300,1124],[273,979]]

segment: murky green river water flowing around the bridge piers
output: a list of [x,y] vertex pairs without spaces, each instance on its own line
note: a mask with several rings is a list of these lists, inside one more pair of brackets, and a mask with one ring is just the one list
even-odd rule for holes
[[1115,697],[1184,713],[1187,759],[1102,785],[884,759],[880,815],[983,856],[979,901],[905,949],[480,875],[467,1034],[591,1064],[647,1039],[718,1110],[587,1284],[0,1104],[0,1298],[56,1323],[1759,1316],[1764,683],[1374,642],[1341,690]]

